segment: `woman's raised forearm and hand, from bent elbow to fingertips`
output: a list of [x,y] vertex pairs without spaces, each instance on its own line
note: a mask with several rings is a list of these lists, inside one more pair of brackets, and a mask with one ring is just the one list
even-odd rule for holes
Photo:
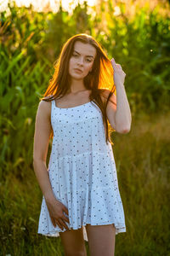
[[127,133],[130,131],[132,115],[124,88],[126,73],[123,72],[120,64],[116,64],[113,58],[111,59],[111,65],[114,70],[114,84],[116,85],[116,131]]

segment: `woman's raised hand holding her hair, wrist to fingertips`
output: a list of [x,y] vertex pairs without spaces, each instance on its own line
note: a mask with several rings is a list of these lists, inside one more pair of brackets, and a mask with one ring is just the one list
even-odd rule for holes
[[117,64],[114,58],[111,59],[111,65],[114,70],[114,84],[124,84],[126,73],[122,70],[121,65]]

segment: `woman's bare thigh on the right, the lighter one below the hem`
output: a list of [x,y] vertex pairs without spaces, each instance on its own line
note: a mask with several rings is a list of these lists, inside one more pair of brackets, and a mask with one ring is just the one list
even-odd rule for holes
[[115,254],[116,229],[114,224],[86,225],[90,256]]

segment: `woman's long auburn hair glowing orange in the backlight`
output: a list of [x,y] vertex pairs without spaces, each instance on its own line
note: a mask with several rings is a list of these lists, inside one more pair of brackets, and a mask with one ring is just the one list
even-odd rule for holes
[[[54,75],[52,79],[49,80],[48,89],[42,95],[43,101],[50,102],[59,96],[65,96],[68,90],[70,90],[71,80],[68,74],[69,61],[73,53],[74,44],[76,41],[81,41],[83,44],[91,44],[96,49],[96,57],[94,59],[94,65],[91,72],[83,79],[84,86],[87,90],[91,90],[89,96],[90,101],[95,102],[95,104],[100,108],[103,123],[105,126],[105,137],[106,143],[108,141],[111,144],[110,132],[115,131],[112,129],[107,116],[106,107],[111,95],[116,92],[116,86],[113,81],[113,67],[111,61],[106,55],[102,46],[90,35],[85,33],[80,33],[69,38],[63,45],[59,58],[54,61]],[[109,96],[106,97],[106,101],[102,101],[101,95],[105,97],[103,92],[105,90],[110,90]],[[116,94],[116,93],[115,93]],[[112,102],[116,105],[116,102]],[[53,137],[53,131],[50,137]]]

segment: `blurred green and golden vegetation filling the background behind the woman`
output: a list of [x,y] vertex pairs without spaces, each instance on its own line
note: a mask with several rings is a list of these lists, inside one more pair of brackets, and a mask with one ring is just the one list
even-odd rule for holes
[[112,134],[127,224],[116,236],[116,255],[169,255],[169,4],[150,10],[145,1],[129,15],[133,4],[127,10],[116,2],[119,15],[111,0],[94,13],[84,3],[71,15],[61,6],[54,14],[15,5],[0,14],[0,255],[64,255],[60,238],[37,235],[42,193],[32,147],[39,96],[62,45],[80,32],[94,36],[127,74],[132,129]]

